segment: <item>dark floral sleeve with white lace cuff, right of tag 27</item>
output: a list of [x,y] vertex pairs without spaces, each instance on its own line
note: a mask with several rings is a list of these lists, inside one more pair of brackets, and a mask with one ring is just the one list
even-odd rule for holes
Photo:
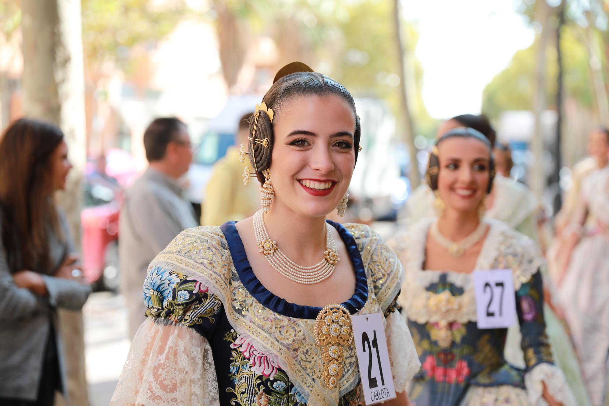
[[565,375],[552,361],[552,350],[546,335],[543,316],[543,282],[537,271],[530,280],[516,291],[516,312],[522,333],[521,347],[527,372],[524,383],[532,405],[546,405],[543,399],[543,384],[549,394],[561,404],[575,405],[573,394],[566,383]]

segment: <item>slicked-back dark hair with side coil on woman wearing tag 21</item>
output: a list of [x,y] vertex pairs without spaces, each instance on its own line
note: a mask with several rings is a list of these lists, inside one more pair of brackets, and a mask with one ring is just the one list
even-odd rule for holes
[[[361,129],[359,117],[357,117],[357,112],[355,110],[355,101],[347,88],[339,84],[339,82],[336,82],[336,80],[317,72],[297,72],[288,74],[278,79],[270,87],[269,91],[264,95],[264,98],[262,98],[262,101],[269,109],[273,110],[276,118],[277,116],[281,116],[281,107],[291,98],[296,96],[325,97],[331,94],[342,98],[350,105],[351,109],[353,109],[355,120],[353,148],[355,149],[355,160],[357,162]],[[250,163],[252,163],[254,168],[258,169],[256,172],[258,180],[260,183],[264,183],[262,171],[270,167],[275,135],[273,133],[273,125],[270,122],[269,115],[267,115],[264,110],[258,113],[258,115],[258,121],[253,117],[250,119],[249,137],[252,139],[249,141],[248,151]],[[264,139],[268,140],[268,147],[254,141]]]

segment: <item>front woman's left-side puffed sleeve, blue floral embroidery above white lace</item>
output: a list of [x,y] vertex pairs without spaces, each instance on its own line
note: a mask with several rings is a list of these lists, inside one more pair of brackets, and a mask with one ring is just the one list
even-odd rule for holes
[[133,338],[111,405],[219,405],[209,338],[222,302],[171,255],[170,244],[149,266],[147,319]]

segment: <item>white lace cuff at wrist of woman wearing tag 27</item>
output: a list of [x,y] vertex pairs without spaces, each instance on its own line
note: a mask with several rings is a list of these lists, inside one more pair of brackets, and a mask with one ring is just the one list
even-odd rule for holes
[[524,376],[524,385],[527,388],[529,404],[535,406],[547,406],[543,399],[543,383],[547,391],[555,401],[563,406],[575,406],[575,397],[567,385],[565,374],[555,365],[541,363],[530,369]]

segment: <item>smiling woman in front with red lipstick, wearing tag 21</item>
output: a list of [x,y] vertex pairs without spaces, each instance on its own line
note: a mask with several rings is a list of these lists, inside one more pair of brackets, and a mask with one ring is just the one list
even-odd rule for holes
[[359,152],[353,98],[295,63],[262,101],[242,149],[262,210],[185,230],[150,264],[113,405],[357,405],[350,316],[376,312],[398,392],[385,404],[408,404],[420,363],[396,313],[400,262],[370,227],[325,220]]

